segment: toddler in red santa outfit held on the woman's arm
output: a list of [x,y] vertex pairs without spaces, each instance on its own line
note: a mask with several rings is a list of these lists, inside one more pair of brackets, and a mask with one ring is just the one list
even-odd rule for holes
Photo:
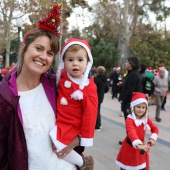
[[[61,50],[57,70],[57,119],[50,132],[51,139],[65,160],[80,169],[93,169],[93,158],[84,159],[75,151],[65,148],[80,135],[80,146],[92,146],[97,117],[98,97],[93,77],[88,74],[93,63],[91,49],[86,40],[71,38]],[[65,68],[65,69],[64,69]],[[64,70],[63,70],[64,69]]]

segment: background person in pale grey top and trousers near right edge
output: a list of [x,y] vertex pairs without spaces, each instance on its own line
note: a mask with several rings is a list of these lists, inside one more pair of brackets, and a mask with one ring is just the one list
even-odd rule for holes
[[164,97],[168,92],[168,80],[165,78],[165,70],[164,68],[159,68],[159,77],[154,79],[155,84],[155,91],[154,95],[156,97],[156,113],[155,113],[155,120],[157,122],[161,122],[160,118],[160,110],[161,105],[164,101]]

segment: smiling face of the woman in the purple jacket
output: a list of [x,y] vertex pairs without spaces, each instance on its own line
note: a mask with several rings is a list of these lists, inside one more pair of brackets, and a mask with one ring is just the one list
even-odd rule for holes
[[47,36],[38,37],[28,46],[24,54],[22,70],[26,73],[41,75],[50,68],[53,59],[54,53],[51,50],[50,39]]

